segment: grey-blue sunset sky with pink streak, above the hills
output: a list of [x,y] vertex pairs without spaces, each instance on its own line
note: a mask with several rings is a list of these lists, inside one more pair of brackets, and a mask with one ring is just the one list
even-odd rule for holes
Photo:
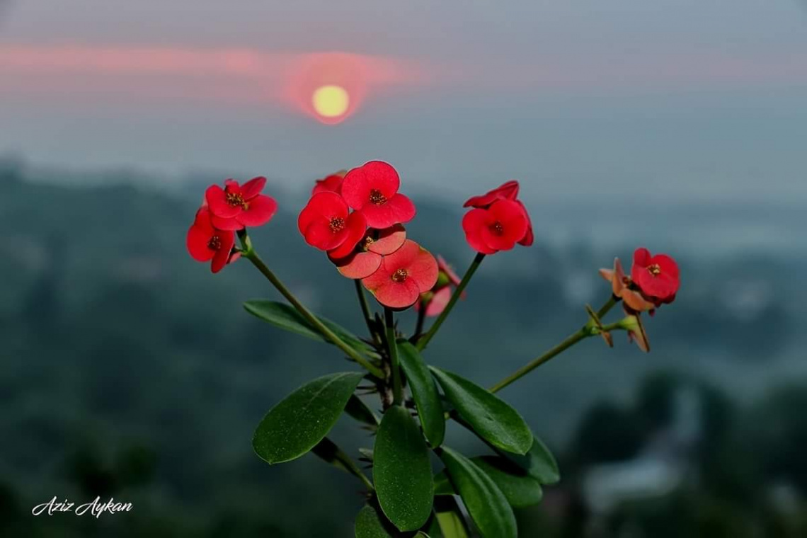
[[[0,153],[451,192],[807,199],[804,0],[0,0]],[[353,108],[312,117],[338,79]],[[302,187],[301,187],[302,188]],[[532,193],[532,194],[529,194]]]

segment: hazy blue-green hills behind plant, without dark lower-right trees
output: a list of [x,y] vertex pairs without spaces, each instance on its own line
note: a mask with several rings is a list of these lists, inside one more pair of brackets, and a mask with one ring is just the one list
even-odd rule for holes
[[[190,259],[185,233],[203,181],[170,190],[136,174],[109,182],[74,185],[0,163],[0,485],[11,499],[0,506],[124,488],[141,515],[147,507],[172,515],[164,536],[177,528],[196,536],[200,521],[205,536],[349,536],[352,521],[335,516],[362,503],[349,478],[312,457],[269,468],[250,440],[283,395],[352,366],[247,315],[245,299],[278,298],[248,263],[211,275]],[[281,209],[250,232],[253,243],[303,302],[361,332],[352,284],[299,237],[302,189],[270,183]],[[419,211],[409,236],[462,273],[473,257],[462,200],[403,190]],[[650,355],[624,335],[613,350],[592,339],[503,392],[558,451],[574,446],[592,405],[632,405],[638,383],[659,369],[709,383],[740,406],[807,379],[798,323],[807,252],[792,240],[804,224],[796,208],[607,196],[529,207],[537,245],[484,262],[429,361],[490,385],[584,323],[583,304],[608,297],[596,269],[613,256],[629,265],[633,248],[646,246],[674,255],[683,275],[675,305],[647,322]],[[414,321],[403,315],[400,324],[410,331]],[[338,440],[371,442],[350,426],[338,427]],[[300,503],[310,507],[304,517]],[[237,524],[249,528],[215,534]]]

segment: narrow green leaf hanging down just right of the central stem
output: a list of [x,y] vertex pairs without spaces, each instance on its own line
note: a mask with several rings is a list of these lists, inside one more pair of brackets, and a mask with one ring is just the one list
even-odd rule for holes
[[445,439],[445,416],[429,366],[420,357],[417,348],[406,340],[398,343],[398,354],[409,389],[412,390],[412,398],[415,398],[417,415],[426,439],[432,447],[438,447]]

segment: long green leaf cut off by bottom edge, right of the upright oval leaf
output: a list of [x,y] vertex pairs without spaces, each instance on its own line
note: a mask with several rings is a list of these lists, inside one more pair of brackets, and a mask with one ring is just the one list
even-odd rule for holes
[[495,482],[451,448],[443,447],[440,458],[482,536],[517,538],[516,516]]

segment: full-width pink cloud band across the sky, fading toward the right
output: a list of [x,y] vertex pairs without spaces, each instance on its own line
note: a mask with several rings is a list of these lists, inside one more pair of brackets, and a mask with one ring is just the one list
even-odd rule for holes
[[112,102],[269,103],[311,113],[317,85],[350,86],[353,106],[395,91],[503,92],[562,89],[688,90],[717,85],[807,84],[807,57],[603,51],[599,56],[536,55],[529,65],[478,58],[432,65],[345,52],[249,48],[0,45],[0,91],[17,98]]

